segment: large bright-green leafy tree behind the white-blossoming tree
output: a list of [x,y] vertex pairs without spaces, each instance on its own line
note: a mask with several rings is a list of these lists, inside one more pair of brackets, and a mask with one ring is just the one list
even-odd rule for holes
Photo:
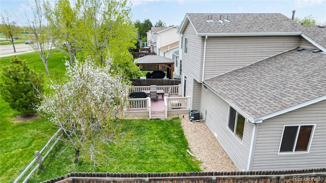
[[[76,0],[79,47],[101,65],[113,59],[113,68],[128,76],[138,74],[129,48],[137,43],[137,31],[130,21],[127,0]],[[137,72],[136,72],[137,71]]]

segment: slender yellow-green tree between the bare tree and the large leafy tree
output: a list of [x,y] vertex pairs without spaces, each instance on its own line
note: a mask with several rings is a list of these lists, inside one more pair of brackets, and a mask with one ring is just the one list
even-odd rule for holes
[[53,7],[45,4],[46,17],[51,27],[57,32],[56,47],[69,54],[70,64],[73,64],[77,51],[76,13],[70,6],[69,0],[58,0]]

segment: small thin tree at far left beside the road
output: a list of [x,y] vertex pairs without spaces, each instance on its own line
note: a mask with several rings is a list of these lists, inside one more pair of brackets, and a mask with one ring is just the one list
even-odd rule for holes
[[12,47],[14,48],[14,53],[16,53],[16,48],[15,48],[15,44],[14,44],[14,35],[16,33],[18,33],[18,27],[16,26],[16,22],[15,21],[11,21],[9,20],[10,18],[10,14],[8,13],[8,11],[5,11],[5,14],[1,14],[1,21],[3,26],[1,26],[1,32],[3,32],[7,38],[9,38],[9,40],[12,43]]

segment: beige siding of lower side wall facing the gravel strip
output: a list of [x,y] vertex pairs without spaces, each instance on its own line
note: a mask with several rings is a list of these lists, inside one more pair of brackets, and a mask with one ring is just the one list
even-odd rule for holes
[[[207,114],[205,115],[205,111]],[[229,105],[209,88],[202,88],[200,112],[205,124],[239,171],[247,170],[253,124],[244,124],[243,141],[228,129]],[[218,165],[216,165],[218,166]]]

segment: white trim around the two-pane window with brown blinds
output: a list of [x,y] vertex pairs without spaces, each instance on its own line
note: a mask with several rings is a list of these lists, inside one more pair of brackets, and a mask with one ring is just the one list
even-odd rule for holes
[[[293,126],[298,127],[298,131],[296,132],[295,144],[294,144],[294,147],[292,149],[292,152],[280,152],[285,127],[293,127]],[[310,138],[309,143],[308,143],[308,149],[307,149],[307,151],[298,151],[298,152],[295,152],[295,146],[296,146],[296,142],[297,142],[297,137],[299,136],[299,132],[300,132],[301,126],[313,126],[312,127],[312,132],[311,132],[311,138]],[[313,139],[314,134],[315,134],[315,128],[316,128],[316,124],[284,125],[283,126],[281,140],[280,140],[278,155],[309,154],[311,142],[312,142],[312,139]]]

